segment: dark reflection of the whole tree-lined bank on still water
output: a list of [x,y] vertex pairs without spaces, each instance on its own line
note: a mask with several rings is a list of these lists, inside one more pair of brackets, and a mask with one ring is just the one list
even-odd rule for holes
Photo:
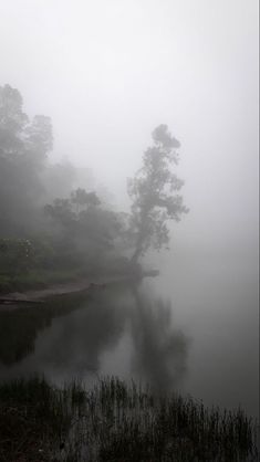
[[1,313],[0,374],[37,371],[54,381],[117,374],[167,391],[184,377],[187,358],[171,315],[169,302],[124,284]]

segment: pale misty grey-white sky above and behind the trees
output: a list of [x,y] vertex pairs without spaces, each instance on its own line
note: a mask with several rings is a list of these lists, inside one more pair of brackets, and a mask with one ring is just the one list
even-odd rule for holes
[[177,235],[256,242],[257,0],[0,0],[0,85],[51,116],[53,160],[126,201],[150,132],[180,143],[190,213]]

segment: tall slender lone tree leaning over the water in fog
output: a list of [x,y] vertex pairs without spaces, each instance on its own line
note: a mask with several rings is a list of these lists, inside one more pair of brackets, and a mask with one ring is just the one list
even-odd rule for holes
[[173,164],[178,164],[176,149],[180,144],[167,125],[155,128],[152,137],[154,145],[145,150],[143,167],[128,180],[135,245],[132,261],[135,263],[149,248],[168,248],[167,220],[179,221],[181,214],[188,212],[183,197],[176,193],[184,181],[170,170]]

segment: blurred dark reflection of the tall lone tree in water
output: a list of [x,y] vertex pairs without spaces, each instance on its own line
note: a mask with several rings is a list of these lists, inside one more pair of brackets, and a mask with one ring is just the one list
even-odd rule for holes
[[173,328],[173,307],[169,301],[148,298],[137,291],[134,291],[134,367],[155,389],[166,392],[185,374],[187,338],[180,330]]

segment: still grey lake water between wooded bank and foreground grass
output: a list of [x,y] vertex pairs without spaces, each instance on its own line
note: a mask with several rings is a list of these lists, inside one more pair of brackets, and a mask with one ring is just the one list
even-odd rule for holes
[[44,374],[58,385],[102,375],[178,390],[258,414],[256,258],[171,255],[139,285],[0,313],[0,379]]

